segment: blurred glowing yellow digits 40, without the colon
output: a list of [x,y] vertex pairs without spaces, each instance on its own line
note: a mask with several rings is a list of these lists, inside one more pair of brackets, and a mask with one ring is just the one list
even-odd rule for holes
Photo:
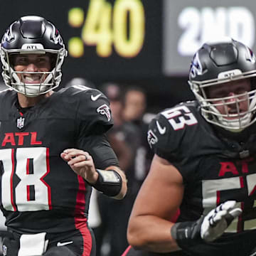
[[101,57],[112,54],[112,45],[119,55],[134,57],[144,43],[144,19],[140,0],[117,0],[113,10],[105,0],[90,0],[82,40],[87,45],[95,45]]

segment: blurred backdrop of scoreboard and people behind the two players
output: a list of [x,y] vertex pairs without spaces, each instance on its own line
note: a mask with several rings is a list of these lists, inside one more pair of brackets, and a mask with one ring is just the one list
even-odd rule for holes
[[[121,203],[94,192],[89,220],[97,256],[119,256],[152,157],[147,124],[160,110],[193,100],[188,70],[203,42],[231,36],[256,51],[256,1],[1,1],[0,33],[25,15],[43,16],[63,36],[68,58],[58,90],[85,85],[110,98],[115,124],[108,136],[129,177],[129,193]],[[1,78],[0,84],[4,88]]]

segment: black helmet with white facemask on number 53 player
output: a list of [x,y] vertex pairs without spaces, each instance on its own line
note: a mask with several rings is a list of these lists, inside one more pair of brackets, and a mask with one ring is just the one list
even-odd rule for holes
[[[240,132],[256,121],[256,58],[252,50],[243,43],[232,38],[223,38],[220,41],[204,43],[195,53],[191,62],[188,83],[193,94],[201,105],[203,117],[210,123],[228,129],[231,132]],[[251,80],[251,90],[230,97],[210,99],[207,90],[233,80]],[[227,85],[228,86],[228,85]],[[240,113],[239,102],[242,97],[247,101],[247,112]],[[228,113],[227,100],[233,100],[236,113]],[[221,102],[221,103],[220,103]],[[221,114],[216,106],[222,105],[225,114]],[[228,118],[228,117],[232,117]]]

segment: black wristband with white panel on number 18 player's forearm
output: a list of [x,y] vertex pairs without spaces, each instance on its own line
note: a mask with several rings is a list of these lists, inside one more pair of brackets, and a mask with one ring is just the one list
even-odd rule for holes
[[117,196],[122,188],[122,177],[114,170],[96,169],[99,174],[95,184],[90,185],[106,196]]

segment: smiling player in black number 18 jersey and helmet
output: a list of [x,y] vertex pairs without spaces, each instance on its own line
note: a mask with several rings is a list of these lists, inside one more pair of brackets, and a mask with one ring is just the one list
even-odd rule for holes
[[105,132],[112,127],[99,90],[60,85],[67,50],[58,29],[23,16],[1,40],[1,210],[4,255],[95,255],[87,225],[92,187],[122,199],[126,178]]

